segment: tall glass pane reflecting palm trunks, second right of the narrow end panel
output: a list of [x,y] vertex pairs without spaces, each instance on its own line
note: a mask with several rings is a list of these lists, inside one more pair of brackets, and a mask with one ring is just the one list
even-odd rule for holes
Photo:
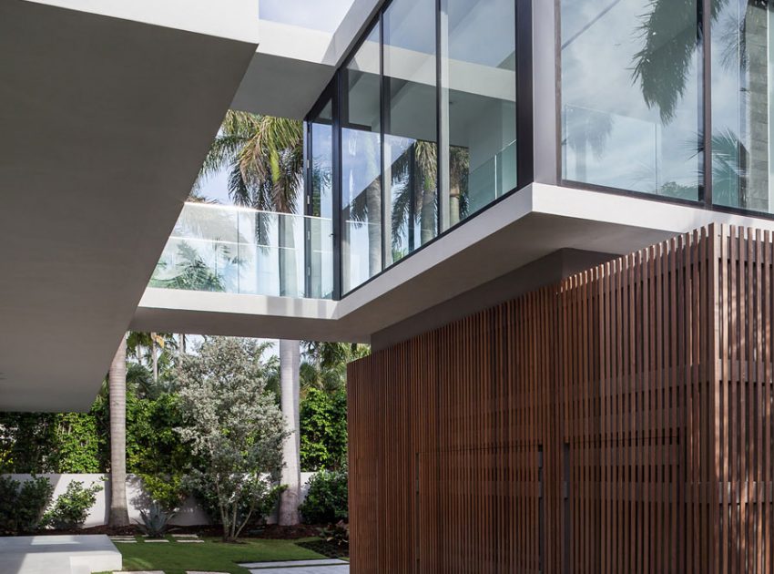
[[392,262],[438,234],[435,1],[393,0],[383,18]]

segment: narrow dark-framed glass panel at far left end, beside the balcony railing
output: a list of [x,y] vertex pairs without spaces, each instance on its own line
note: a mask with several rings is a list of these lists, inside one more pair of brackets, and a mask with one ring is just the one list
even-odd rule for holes
[[310,178],[307,206],[307,292],[329,299],[333,292],[333,102],[326,101],[309,122]]

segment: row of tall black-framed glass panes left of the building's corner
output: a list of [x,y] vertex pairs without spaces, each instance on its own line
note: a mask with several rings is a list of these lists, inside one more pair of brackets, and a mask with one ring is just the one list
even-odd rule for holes
[[515,21],[514,0],[392,0],[308,119],[313,205],[341,184],[342,293],[516,187]]

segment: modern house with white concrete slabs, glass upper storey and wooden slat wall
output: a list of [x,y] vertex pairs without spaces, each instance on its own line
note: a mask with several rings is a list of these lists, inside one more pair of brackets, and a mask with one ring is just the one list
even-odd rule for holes
[[[0,6],[0,408],[127,328],[371,343],[354,572],[771,571],[769,2],[103,4]],[[229,108],[295,212],[185,202]]]

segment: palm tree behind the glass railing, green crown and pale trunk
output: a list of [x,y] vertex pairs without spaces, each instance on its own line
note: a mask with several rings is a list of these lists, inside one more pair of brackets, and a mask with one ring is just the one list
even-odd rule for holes
[[[256,116],[229,110],[199,173],[199,184],[214,173],[229,169],[229,197],[234,203],[257,210],[294,213],[303,183],[303,128],[300,121]],[[299,290],[290,217],[278,217],[280,295],[296,296]],[[259,217],[256,239],[266,244],[271,219]],[[299,523],[300,342],[280,341],[280,405],[292,435],[283,447],[282,483],[287,490],[280,500],[280,524]]]

